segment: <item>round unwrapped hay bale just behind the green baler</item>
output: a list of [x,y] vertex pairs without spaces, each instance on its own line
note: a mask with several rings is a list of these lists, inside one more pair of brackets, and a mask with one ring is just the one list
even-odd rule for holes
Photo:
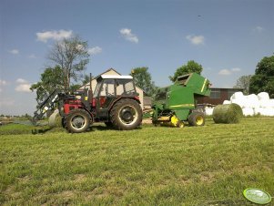
[[215,123],[235,124],[243,117],[243,111],[238,104],[218,105],[213,110]]

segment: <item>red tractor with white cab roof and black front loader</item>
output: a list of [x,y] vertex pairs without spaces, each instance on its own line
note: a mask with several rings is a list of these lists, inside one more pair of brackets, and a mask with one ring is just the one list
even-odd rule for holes
[[56,108],[62,124],[69,132],[79,133],[93,122],[105,122],[108,127],[136,129],[142,122],[142,109],[131,76],[102,75],[97,78],[96,89],[76,92],[54,91],[37,107],[33,122],[41,119],[48,109]]

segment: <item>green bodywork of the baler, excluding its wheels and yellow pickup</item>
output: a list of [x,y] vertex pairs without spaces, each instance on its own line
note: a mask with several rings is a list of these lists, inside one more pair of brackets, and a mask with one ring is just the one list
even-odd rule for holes
[[209,96],[209,81],[196,73],[178,77],[178,80],[166,88],[158,88],[154,98],[153,120],[176,115],[181,121],[188,120],[191,110],[196,108],[196,97]]

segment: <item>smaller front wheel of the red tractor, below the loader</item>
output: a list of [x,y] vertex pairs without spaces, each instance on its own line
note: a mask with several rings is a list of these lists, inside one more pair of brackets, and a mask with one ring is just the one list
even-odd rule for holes
[[90,115],[84,109],[74,109],[66,116],[66,129],[71,133],[81,133],[90,126]]

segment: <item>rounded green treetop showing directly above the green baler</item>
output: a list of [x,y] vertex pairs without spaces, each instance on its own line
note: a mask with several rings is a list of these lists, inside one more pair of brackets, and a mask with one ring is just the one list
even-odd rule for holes
[[201,74],[202,70],[203,70],[203,67],[201,65],[199,65],[194,60],[190,60],[190,61],[188,61],[187,65],[183,65],[182,67],[178,67],[178,69],[174,73],[174,76],[173,77],[169,76],[169,79],[171,81],[175,82],[177,80],[177,78],[182,76],[182,75],[187,75],[187,74],[193,73],[193,72]]

